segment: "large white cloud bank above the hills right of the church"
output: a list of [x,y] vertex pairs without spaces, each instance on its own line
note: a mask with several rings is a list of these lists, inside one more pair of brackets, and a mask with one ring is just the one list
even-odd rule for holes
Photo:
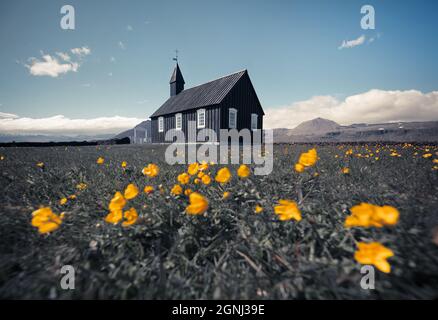
[[316,96],[288,106],[266,110],[266,128],[294,128],[303,121],[321,117],[348,125],[393,121],[438,120],[438,91],[385,91],[373,89],[344,100]]

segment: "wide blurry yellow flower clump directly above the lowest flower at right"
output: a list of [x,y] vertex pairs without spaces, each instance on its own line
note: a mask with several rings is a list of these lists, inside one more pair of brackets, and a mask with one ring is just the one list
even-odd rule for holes
[[361,203],[353,206],[351,215],[345,219],[345,227],[377,227],[384,225],[395,225],[399,219],[399,212],[391,206],[376,206],[368,203]]

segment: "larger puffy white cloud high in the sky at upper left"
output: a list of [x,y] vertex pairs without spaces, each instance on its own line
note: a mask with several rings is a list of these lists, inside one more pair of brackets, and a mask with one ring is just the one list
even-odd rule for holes
[[67,72],[77,72],[79,68],[79,64],[76,62],[62,63],[48,54],[43,55],[42,60],[31,58],[30,64],[26,64],[25,66],[29,69],[31,75],[49,76],[53,78]]

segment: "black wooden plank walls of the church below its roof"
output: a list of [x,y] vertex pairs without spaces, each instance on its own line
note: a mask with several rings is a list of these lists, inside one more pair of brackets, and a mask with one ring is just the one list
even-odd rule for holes
[[[221,103],[213,106],[202,107],[206,113],[206,128],[215,130],[219,137],[219,129],[228,129],[228,110],[234,108],[237,110],[237,130],[243,128],[251,129],[251,114],[258,115],[257,128],[263,129],[263,109],[257,94],[249,79],[248,74],[242,76],[235,84],[227,96]],[[187,139],[188,121],[197,121],[197,110],[192,109],[181,112],[182,114],[182,131]],[[175,128],[175,114],[164,115],[164,132],[158,132],[158,117],[153,117],[152,120],[152,143],[170,143],[165,141],[165,133],[167,130]],[[197,122],[196,122],[197,123]],[[199,132],[198,129],[197,131]]]

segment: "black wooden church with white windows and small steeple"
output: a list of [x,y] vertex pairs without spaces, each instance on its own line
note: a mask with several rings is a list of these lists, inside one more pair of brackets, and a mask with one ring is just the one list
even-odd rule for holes
[[[151,115],[152,143],[165,143],[170,129],[182,130],[187,139],[188,122],[198,130],[263,129],[263,108],[247,70],[184,90],[178,63],[170,78],[170,98]],[[167,141],[169,142],[169,141]]]

